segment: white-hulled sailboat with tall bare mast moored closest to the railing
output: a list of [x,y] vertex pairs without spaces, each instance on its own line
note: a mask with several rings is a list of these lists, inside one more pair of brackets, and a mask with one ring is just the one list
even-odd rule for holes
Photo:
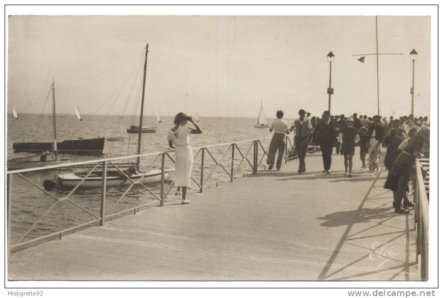
[[[148,61],[148,44],[146,44],[146,53],[145,53],[145,66],[144,66],[144,75],[143,75],[143,89],[142,89],[142,104],[140,111],[140,125],[137,126],[139,129],[139,141],[137,147],[137,155],[141,154],[142,148],[142,123],[143,123],[143,107],[145,102],[145,85],[146,85],[146,65]],[[131,168],[128,169],[127,172],[130,171]],[[132,168],[132,174],[127,174],[131,180],[140,181],[141,183],[155,183],[161,181],[161,169],[160,170],[150,170],[150,171],[138,171],[140,169],[140,157],[137,157],[137,162],[135,166]],[[170,177],[175,169],[164,169],[164,180],[170,180]],[[93,188],[100,187],[103,172],[101,170],[93,171],[88,177],[86,175],[88,171],[75,172],[75,173],[60,173],[56,175],[56,187],[57,188],[73,188],[80,181],[84,180],[80,184],[80,188]],[[86,178],[85,178],[86,177]],[[46,182],[45,182],[46,183]],[[125,175],[118,169],[113,169],[110,167],[110,170],[106,170],[106,186],[123,186],[129,185],[131,181],[129,181]]]

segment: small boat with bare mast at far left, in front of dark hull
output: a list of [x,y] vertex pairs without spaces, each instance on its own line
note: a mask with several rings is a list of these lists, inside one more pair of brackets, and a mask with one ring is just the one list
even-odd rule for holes
[[[52,81],[52,91],[53,91],[53,81]],[[14,106],[15,110],[15,106]],[[56,97],[54,93],[52,93],[52,115],[56,114]],[[15,116],[14,116],[15,117]],[[57,129],[56,129],[56,117],[53,117],[53,142],[51,144],[51,150],[54,153],[54,159],[47,160],[46,156],[49,154],[49,152],[43,152],[43,155],[32,155],[32,156],[26,156],[26,157],[20,157],[20,158],[14,158],[7,161],[8,170],[17,170],[17,169],[28,169],[28,168],[35,168],[35,167],[43,167],[47,165],[56,165],[56,164],[62,164],[62,163],[69,163],[72,162],[71,159],[64,159],[64,160],[58,160],[57,159]],[[15,145],[15,144],[14,144]],[[39,160],[33,160],[37,157],[40,157]]]

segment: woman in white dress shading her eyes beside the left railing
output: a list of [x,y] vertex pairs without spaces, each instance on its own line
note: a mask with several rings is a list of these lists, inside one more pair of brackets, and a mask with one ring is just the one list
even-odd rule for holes
[[[187,126],[187,122],[192,123],[195,129]],[[177,185],[176,195],[182,193],[182,203],[190,203],[186,199],[186,191],[190,184],[192,163],[194,156],[189,144],[189,134],[201,134],[202,130],[194,122],[192,117],[185,113],[178,113],[174,118],[175,126],[168,131],[169,146],[175,149],[175,184]]]

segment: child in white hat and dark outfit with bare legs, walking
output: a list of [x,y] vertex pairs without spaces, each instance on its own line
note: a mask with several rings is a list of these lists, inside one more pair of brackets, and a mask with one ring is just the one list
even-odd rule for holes
[[339,135],[339,142],[342,143],[341,154],[345,158],[345,175],[352,177],[352,158],[355,153],[355,144],[360,140],[358,130],[353,127],[354,120],[351,117],[346,118],[346,127],[342,129]]

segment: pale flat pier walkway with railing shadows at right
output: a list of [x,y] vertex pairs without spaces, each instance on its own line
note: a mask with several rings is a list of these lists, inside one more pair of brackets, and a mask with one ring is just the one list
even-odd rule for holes
[[[321,153],[107,221],[9,258],[10,280],[419,280],[414,213],[387,172],[343,173]],[[382,160],[380,160],[380,164]]]

